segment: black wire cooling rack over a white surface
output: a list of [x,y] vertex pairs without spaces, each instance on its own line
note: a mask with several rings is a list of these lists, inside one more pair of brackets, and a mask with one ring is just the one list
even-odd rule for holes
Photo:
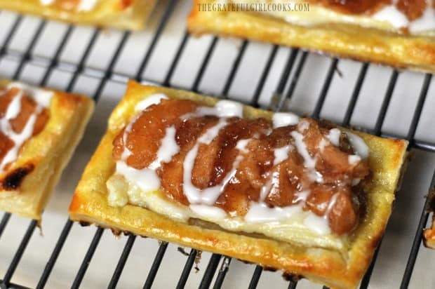
[[[35,220],[3,214],[0,288],[321,287],[305,280],[285,281],[278,273],[230,257],[194,249],[186,253],[176,245],[157,245],[135,236],[120,236],[123,242],[104,235],[102,228],[82,228],[69,219],[65,223],[74,186],[128,78],[232,98],[254,107],[310,114],[409,140],[414,160],[360,288],[433,288],[435,278],[429,271],[435,254],[420,248],[429,217],[424,195],[435,182],[431,74],[399,72],[267,43],[195,38],[185,28],[190,5],[189,1],[159,1],[147,29],[139,33],[0,12],[2,77],[93,95],[98,101],[88,131],[44,213],[41,233],[45,236],[32,238]],[[201,270],[194,274],[199,257]]]

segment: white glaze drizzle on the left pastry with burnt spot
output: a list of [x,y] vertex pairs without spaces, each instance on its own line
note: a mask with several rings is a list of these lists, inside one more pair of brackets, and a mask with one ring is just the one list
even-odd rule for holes
[[[11,90],[11,88],[18,88],[18,95],[15,95],[13,100],[8,105],[8,109],[6,109],[6,113],[0,119],[0,130],[1,133],[4,133],[10,140],[14,142],[14,145],[11,149],[8,150],[4,158],[0,163],[0,173],[4,173],[5,166],[8,163],[12,163],[18,159],[18,151],[20,147],[30,138],[32,137],[32,133],[34,130],[34,125],[36,123],[36,119],[38,114],[44,109],[44,107],[48,107],[51,102],[51,98],[53,97],[53,92],[49,90],[43,90],[40,88],[34,88],[32,86],[27,86],[24,83],[12,82],[6,86],[6,90]],[[0,95],[0,98],[5,94]],[[25,127],[22,129],[21,133],[15,133],[11,126],[11,120],[15,119],[21,112],[21,100],[22,97],[26,93],[36,102],[36,108],[34,112],[29,116]]]

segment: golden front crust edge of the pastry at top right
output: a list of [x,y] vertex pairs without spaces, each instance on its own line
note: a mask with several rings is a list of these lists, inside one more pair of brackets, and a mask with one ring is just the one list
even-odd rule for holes
[[216,1],[194,1],[187,20],[192,34],[236,36],[396,68],[435,72],[434,37],[398,34],[344,23],[303,27],[257,13],[199,11],[198,5],[208,2]]

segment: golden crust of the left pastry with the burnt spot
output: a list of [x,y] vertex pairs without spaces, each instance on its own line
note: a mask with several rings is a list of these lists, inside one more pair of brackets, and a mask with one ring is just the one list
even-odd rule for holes
[[[7,83],[0,81],[0,86]],[[79,143],[94,107],[93,100],[86,96],[51,91],[54,95],[46,126],[25,142],[17,161],[0,174],[4,182],[11,171],[32,168],[15,189],[0,189],[0,210],[35,220],[41,220],[42,210]]]

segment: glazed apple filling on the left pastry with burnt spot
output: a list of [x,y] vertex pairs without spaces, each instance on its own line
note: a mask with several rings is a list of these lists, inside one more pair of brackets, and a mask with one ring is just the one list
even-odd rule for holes
[[22,83],[0,88],[0,173],[18,159],[22,145],[46,126],[51,96]]

